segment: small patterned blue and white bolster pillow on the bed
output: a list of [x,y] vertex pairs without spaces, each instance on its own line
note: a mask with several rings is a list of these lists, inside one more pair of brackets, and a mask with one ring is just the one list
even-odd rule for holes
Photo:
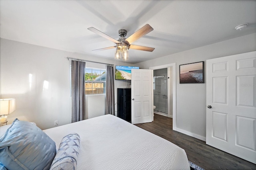
[[80,136],[77,133],[70,133],[65,136],[60,148],[52,161],[50,170],[75,170],[76,161],[80,148]]

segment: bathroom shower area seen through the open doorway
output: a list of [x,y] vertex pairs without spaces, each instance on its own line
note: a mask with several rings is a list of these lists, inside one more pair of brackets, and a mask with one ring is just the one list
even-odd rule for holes
[[172,117],[172,67],[153,71],[154,113]]

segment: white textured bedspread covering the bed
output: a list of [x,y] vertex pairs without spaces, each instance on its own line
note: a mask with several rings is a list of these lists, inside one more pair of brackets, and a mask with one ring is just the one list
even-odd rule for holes
[[77,170],[190,170],[184,149],[114,115],[103,115],[46,129],[56,142],[78,133]]

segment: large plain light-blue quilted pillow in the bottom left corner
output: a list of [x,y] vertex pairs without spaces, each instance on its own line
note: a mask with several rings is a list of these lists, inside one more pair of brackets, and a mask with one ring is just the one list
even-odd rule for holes
[[0,139],[0,164],[9,170],[49,170],[55,142],[39,127],[15,119]]

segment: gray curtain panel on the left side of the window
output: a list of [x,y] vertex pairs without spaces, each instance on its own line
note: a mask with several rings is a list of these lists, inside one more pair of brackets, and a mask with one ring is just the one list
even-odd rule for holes
[[72,123],[85,119],[84,69],[85,62],[71,61]]

